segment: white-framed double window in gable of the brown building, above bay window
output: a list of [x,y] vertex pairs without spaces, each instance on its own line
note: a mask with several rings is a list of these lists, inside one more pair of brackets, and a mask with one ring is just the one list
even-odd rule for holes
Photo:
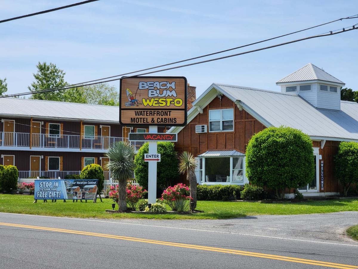
[[209,110],[209,132],[233,131],[234,109]]

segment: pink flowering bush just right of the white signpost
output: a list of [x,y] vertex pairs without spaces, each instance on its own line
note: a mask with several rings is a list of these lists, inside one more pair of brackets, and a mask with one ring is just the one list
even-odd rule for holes
[[[192,200],[189,194],[189,187],[183,183],[179,183],[174,187],[166,188],[161,194],[161,200],[168,204],[174,211],[184,212],[182,209],[187,208],[186,205],[189,205]],[[179,204],[184,204],[185,206],[178,207]]]

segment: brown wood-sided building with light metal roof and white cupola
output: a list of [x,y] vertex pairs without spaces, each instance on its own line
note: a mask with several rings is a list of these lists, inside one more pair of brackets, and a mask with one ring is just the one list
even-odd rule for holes
[[[198,184],[248,183],[245,150],[254,133],[266,127],[300,129],[312,140],[316,173],[305,196],[335,195],[342,190],[334,176],[340,141],[358,141],[358,103],[340,100],[345,84],[309,63],[276,82],[281,91],[213,83],[188,111],[178,134],[179,152],[198,158]],[[182,178],[181,180],[185,180]],[[293,197],[292,190],[286,190]]]

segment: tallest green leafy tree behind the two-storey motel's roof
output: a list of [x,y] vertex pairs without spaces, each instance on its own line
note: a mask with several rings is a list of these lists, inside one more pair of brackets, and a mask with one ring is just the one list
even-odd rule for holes
[[50,91],[47,93],[36,92],[68,85],[64,80],[64,75],[66,73],[59,69],[54,63],[47,64],[46,62],[39,62],[36,67],[37,73],[33,74],[35,81],[28,87],[28,89],[33,92],[31,98],[38,100],[63,101],[63,90]]

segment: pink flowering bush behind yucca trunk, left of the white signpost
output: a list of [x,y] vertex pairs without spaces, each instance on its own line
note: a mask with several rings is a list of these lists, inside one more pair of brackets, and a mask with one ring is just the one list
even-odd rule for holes
[[[130,210],[136,210],[137,203],[143,196],[147,193],[147,190],[144,190],[140,186],[128,184],[126,189],[127,197],[127,207]],[[111,186],[108,196],[113,199],[114,202],[118,203],[118,185],[116,187]]]

